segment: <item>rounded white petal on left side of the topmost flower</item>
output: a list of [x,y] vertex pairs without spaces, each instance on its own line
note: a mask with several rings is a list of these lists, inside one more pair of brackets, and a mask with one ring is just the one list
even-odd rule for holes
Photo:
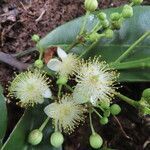
[[47,67],[53,71],[59,71],[59,67],[60,67],[61,61],[59,61],[58,59],[51,59],[48,63],[47,63]]

